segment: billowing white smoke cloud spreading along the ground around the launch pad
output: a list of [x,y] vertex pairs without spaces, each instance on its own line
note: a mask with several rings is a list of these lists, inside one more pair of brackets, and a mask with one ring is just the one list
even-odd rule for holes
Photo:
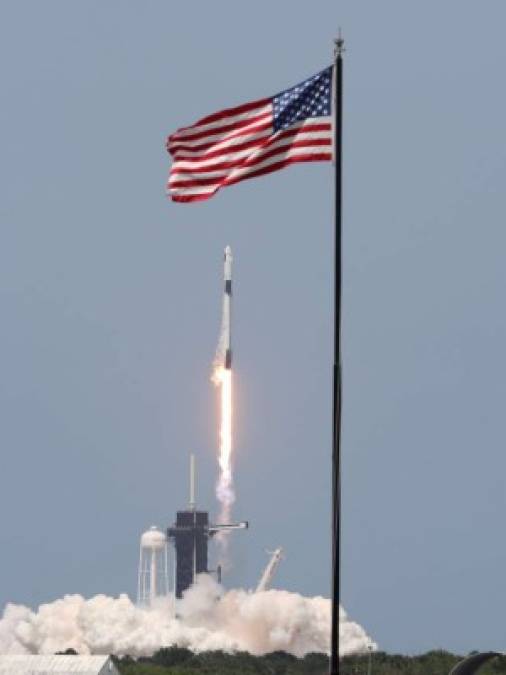
[[[0,619],[0,654],[80,654],[150,656],[160,647],[178,645],[195,652],[222,649],[264,654],[284,650],[303,656],[328,652],[330,601],[288,591],[224,591],[201,575],[178,601],[178,618],[168,599],[146,609],[126,595],[97,595],[89,600],[66,595],[36,611],[8,604]],[[341,610],[343,654],[376,645],[364,629]]]

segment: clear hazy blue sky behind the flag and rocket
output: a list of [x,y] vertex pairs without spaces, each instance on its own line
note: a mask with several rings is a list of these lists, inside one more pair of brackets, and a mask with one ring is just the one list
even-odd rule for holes
[[226,583],[285,548],[329,594],[332,171],[199,205],[165,136],[345,62],[343,597],[387,650],[505,649],[504,0],[4,0],[0,605],[135,593],[138,535],[216,511],[235,255]]

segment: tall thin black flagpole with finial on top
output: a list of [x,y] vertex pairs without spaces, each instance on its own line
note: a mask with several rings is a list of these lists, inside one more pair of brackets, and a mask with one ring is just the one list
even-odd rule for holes
[[335,41],[334,52],[334,374],[332,396],[332,628],[330,675],[339,673],[339,607],[341,603],[341,289],[342,289],[342,130],[344,40]]

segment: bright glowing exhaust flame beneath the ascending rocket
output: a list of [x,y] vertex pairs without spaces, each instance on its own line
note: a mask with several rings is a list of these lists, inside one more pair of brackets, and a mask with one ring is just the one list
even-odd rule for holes
[[221,505],[220,519],[230,522],[231,507],[235,501],[232,474],[232,370],[216,365],[212,381],[220,387],[220,431],[218,465],[220,474],[216,484],[216,497]]

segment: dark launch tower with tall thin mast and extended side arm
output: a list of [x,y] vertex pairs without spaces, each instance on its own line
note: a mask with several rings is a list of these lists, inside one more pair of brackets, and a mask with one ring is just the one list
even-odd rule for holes
[[174,542],[176,551],[175,588],[176,598],[195,582],[197,574],[209,573],[209,540],[218,532],[246,530],[248,522],[212,525],[209,512],[199,511],[195,502],[195,457],[190,457],[190,505],[176,513],[176,522],[167,528],[167,539]]

